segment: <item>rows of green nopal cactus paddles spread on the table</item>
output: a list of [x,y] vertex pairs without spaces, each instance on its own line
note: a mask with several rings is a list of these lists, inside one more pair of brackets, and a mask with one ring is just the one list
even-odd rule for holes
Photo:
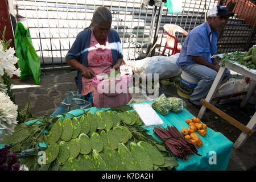
[[40,170],[146,171],[176,166],[168,165],[170,157],[166,159],[152,144],[134,142],[127,125],[142,125],[137,113],[97,111],[79,119],[58,119],[45,140],[46,160]]

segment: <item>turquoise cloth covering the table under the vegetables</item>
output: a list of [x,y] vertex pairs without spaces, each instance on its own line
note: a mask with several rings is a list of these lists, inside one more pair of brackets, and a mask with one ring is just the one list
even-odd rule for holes
[[[150,103],[150,102],[142,102],[142,103]],[[89,111],[93,114],[98,110],[108,110],[109,108],[101,108],[97,109],[96,107],[90,107]],[[88,109],[87,109],[88,110]],[[69,111],[70,114],[65,114],[65,117],[73,117],[73,115],[79,115],[84,113],[84,110],[82,109],[76,109]],[[156,113],[158,113],[156,111]],[[180,113],[173,113],[169,112],[167,115],[161,115],[159,114],[159,117],[164,122],[164,125],[160,127],[166,128],[167,126],[174,125],[177,130],[181,131],[184,127],[188,128],[188,124],[185,122],[186,119],[191,119],[195,117],[187,109],[184,109]],[[62,115],[59,115],[61,119],[64,119]],[[36,119],[33,121],[27,122],[27,124],[31,122],[36,122]],[[202,121],[203,122],[203,121]],[[156,140],[159,140],[162,142],[158,136],[154,134],[155,126],[151,127],[144,127],[144,129],[148,130],[147,133],[152,135]],[[199,134],[198,134],[199,135]],[[196,154],[190,155],[188,160],[181,160],[177,159],[177,163],[179,166],[176,166],[175,169],[177,171],[224,171],[226,170],[230,155],[233,149],[233,142],[231,142],[228,138],[226,138],[224,135],[222,135],[219,132],[213,131],[208,127],[207,129],[207,135],[204,137],[201,137],[199,135],[199,138],[203,142],[203,146],[199,147],[198,153],[202,156],[198,156]],[[5,145],[0,144],[0,148],[4,147]],[[44,143],[39,143],[40,147],[45,147]]]

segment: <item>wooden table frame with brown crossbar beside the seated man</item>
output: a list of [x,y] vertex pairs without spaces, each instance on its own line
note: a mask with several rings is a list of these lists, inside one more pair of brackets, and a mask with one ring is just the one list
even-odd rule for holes
[[200,118],[200,119],[203,118],[203,115],[208,108],[212,110],[214,113],[218,114],[220,117],[224,118],[226,121],[228,121],[232,125],[236,126],[238,129],[240,129],[242,133],[234,143],[234,148],[238,149],[242,146],[243,143],[246,142],[247,138],[254,133],[253,129],[256,126],[256,112],[254,113],[253,117],[250,119],[249,123],[247,123],[247,125],[245,126],[245,125],[242,125],[242,123],[238,122],[236,119],[230,117],[230,115],[224,113],[217,107],[210,104],[210,102],[213,100],[213,96],[216,93],[216,90],[218,89],[218,86],[220,85],[224,77],[226,69],[230,69],[234,72],[240,73],[241,75],[251,79],[250,88],[247,91],[245,98],[240,104],[240,107],[244,107],[249,101],[250,97],[254,94],[254,90],[256,89],[256,70],[248,69],[245,65],[241,65],[240,63],[237,63],[234,61],[233,62],[226,61],[225,64],[223,65],[221,60],[220,65],[221,65],[220,70],[218,71],[217,76],[213,81],[213,84],[209,90],[209,93],[207,94],[207,97],[200,101],[201,104],[203,105],[201,106],[201,109],[199,111],[199,114],[197,115],[197,118]]

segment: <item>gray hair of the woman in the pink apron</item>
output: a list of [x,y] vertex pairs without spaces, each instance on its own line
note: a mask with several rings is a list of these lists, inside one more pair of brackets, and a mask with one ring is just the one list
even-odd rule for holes
[[112,14],[109,9],[104,6],[97,7],[93,13],[92,23],[94,26],[98,26],[104,22],[112,24]]

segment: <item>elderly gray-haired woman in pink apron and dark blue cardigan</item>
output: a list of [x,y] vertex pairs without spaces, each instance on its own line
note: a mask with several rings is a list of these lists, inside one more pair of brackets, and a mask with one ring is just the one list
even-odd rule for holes
[[92,103],[98,98],[92,78],[100,73],[108,74],[110,69],[119,71],[123,63],[121,40],[111,24],[109,9],[98,7],[90,27],[77,35],[65,57],[66,63],[77,69],[75,82],[79,94]]

